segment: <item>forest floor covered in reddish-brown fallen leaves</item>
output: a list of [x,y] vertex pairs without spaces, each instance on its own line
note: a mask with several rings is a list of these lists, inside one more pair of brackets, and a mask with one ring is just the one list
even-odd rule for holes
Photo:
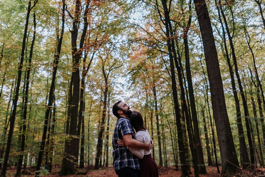
[[[50,174],[43,174],[45,171],[42,172],[42,177],[66,177],[66,176],[59,176],[58,172],[60,172],[61,168],[53,168],[52,173]],[[206,167],[207,174],[200,175],[200,177],[220,177],[220,173],[217,173],[216,167]],[[221,169],[220,169],[221,170]],[[194,177],[193,169],[191,169],[192,173],[190,177]],[[22,170],[22,177],[34,177],[34,169],[29,168],[26,170]],[[175,167],[170,166],[169,168],[159,167],[158,168],[159,177],[179,177],[181,176],[181,170],[176,171]],[[248,174],[246,174],[248,173]],[[256,176],[265,176],[264,169],[256,169],[254,172],[246,171],[244,173],[242,170],[238,170],[238,174],[236,177],[241,176],[248,176],[248,177],[256,177]],[[10,168],[7,170],[7,177],[13,177],[16,174],[15,168]],[[118,177],[113,169],[113,167],[108,168],[101,168],[99,170],[94,170],[93,166],[86,167],[84,169],[78,169],[77,174],[70,175],[68,177]]]

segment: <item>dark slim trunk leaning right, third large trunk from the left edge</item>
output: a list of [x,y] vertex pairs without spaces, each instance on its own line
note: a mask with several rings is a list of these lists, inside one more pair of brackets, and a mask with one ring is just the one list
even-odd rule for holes
[[54,55],[54,60],[53,60],[52,83],[50,86],[48,105],[46,106],[44,127],[43,127],[43,133],[42,133],[42,141],[41,141],[41,145],[40,145],[40,149],[39,149],[39,155],[38,155],[36,172],[35,172],[36,177],[39,176],[39,170],[40,170],[41,163],[42,163],[43,151],[45,148],[46,134],[47,134],[47,128],[48,128],[48,118],[49,118],[49,114],[50,114],[50,110],[51,110],[51,106],[52,106],[52,95],[53,95],[53,92],[55,90],[55,78],[56,78],[60,53],[61,53],[62,38],[63,38],[63,34],[64,34],[64,23],[65,23],[65,0],[62,0],[62,29],[61,29],[60,39],[58,41],[56,53]]

